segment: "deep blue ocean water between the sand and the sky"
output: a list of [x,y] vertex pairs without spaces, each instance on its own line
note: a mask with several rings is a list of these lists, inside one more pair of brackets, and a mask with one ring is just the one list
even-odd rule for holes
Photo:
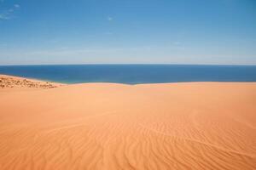
[[256,82],[256,65],[9,65],[0,74],[50,82]]

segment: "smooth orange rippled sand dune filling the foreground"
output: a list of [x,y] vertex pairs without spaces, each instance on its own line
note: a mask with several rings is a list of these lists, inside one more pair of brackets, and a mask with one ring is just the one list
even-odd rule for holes
[[[15,78],[15,77],[13,77]],[[256,83],[0,88],[0,169],[256,169]]]

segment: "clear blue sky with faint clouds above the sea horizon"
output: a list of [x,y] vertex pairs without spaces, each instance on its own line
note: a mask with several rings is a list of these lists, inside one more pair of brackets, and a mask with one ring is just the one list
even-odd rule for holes
[[255,0],[0,0],[0,65],[256,65]]

